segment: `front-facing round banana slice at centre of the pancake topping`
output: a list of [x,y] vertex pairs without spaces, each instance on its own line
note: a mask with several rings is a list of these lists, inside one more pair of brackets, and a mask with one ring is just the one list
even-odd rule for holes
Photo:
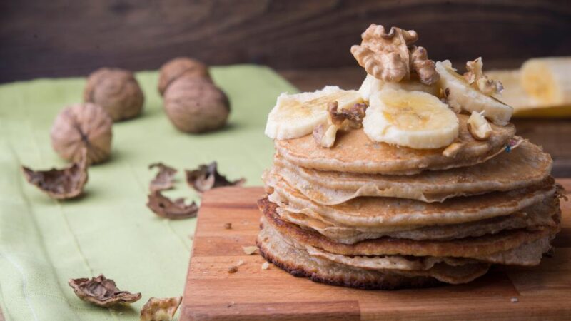
[[441,148],[458,137],[458,117],[430,93],[384,89],[370,96],[363,130],[373,141]]

